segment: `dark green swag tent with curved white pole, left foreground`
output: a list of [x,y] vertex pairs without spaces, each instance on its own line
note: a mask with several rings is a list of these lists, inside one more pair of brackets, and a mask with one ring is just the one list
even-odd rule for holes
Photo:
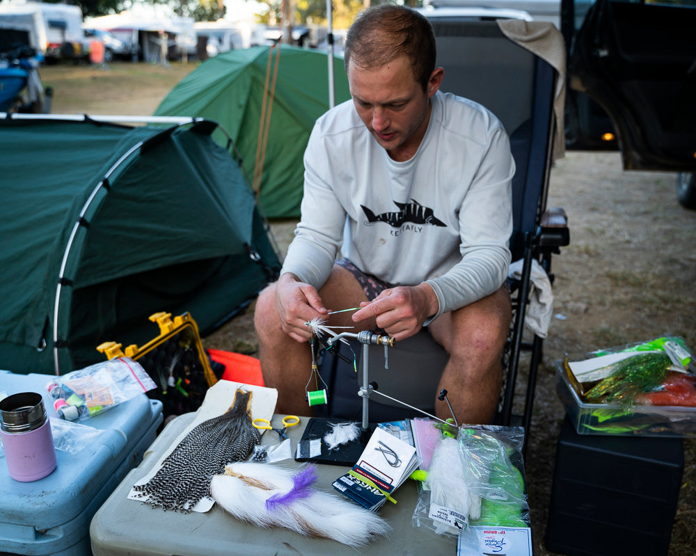
[[205,334],[267,284],[278,257],[216,127],[0,121],[0,368],[103,361],[157,311]]

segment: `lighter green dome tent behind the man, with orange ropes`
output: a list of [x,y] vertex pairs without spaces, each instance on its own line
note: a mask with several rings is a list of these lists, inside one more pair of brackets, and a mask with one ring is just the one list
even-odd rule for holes
[[[276,56],[272,52],[269,65],[269,47],[253,47],[206,60],[171,90],[155,114],[219,122],[253,176],[264,96],[270,98],[265,92],[267,68],[272,83]],[[343,59],[335,56],[333,61],[334,97],[339,104],[350,93]],[[277,67],[258,199],[268,218],[296,218],[302,199],[304,150],[314,122],[329,109],[329,61],[326,53],[283,44]]]

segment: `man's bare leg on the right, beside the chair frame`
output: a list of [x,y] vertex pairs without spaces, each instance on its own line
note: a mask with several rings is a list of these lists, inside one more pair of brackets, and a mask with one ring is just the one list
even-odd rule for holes
[[[501,355],[512,319],[507,288],[445,313],[430,325],[433,337],[450,354],[438,385],[459,423],[490,423],[503,386]],[[437,393],[436,393],[437,395]],[[450,417],[447,404],[436,402],[436,414]]]

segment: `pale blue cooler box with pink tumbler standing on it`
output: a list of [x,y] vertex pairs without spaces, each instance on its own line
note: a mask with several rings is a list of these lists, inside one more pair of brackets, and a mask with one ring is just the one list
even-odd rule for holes
[[[52,378],[0,370],[0,393],[42,394],[53,425],[58,417],[45,389]],[[161,402],[144,393],[81,421],[104,432],[79,452],[56,450],[56,469],[38,481],[15,481],[0,456],[0,552],[89,555],[92,517],[126,473],[139,464],[161,421]],[[57,428],[54,438],[56,434]]]

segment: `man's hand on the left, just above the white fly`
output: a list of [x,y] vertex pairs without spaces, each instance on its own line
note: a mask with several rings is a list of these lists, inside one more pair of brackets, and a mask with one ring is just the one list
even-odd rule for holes
[[305,322],[329,312],[316,288],[290,273],[278,279],[276,306],[283,332],[298,342],[306,342],[312,337]]

